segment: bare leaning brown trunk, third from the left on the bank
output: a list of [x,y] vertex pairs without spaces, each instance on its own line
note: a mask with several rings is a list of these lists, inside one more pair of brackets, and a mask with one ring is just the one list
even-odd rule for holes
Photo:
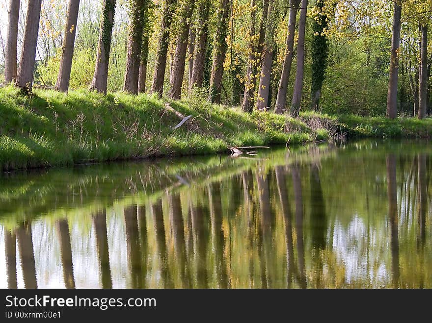
[[62,48],[63,52],[60,59],[57,83],[55,84],[55,89],[61,92],[67,92],[69,89],[79,8],[80,0],[69,0],[66,28],[64,31],[64,44]]

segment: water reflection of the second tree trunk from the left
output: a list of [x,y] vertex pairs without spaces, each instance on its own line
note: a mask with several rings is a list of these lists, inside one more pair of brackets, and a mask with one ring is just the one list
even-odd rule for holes
[[25,288],[37,288],[31,224],[23,223],[16,231]]

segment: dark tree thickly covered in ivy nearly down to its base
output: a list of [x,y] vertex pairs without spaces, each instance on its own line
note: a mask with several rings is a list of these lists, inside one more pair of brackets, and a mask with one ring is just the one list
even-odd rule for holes
[[328,42],[324,32],[328,20],[324,11],[324,0],[317,0],[314,7],[312,20],[312,84],[311,84],[311,108],[318,110],[321,88],[323,87],[325,69],[327,67]]

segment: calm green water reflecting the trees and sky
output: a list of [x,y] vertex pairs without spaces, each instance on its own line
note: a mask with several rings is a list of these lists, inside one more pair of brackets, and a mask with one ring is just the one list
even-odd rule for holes
[[432,288],[432,148],[0,175],[1,288]]

